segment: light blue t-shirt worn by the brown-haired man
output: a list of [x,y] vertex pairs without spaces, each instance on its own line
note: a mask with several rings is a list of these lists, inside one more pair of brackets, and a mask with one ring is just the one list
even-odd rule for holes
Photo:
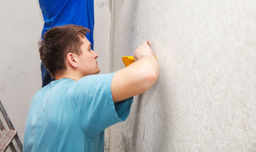
[[24,151],[104,151],[104,129],[126,120],[133,97],[113,102],[115,73],[59,79],[33,97]]

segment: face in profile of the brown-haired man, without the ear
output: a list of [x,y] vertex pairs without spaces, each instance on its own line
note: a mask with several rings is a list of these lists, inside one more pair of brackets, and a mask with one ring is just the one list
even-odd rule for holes
[[98,54],[91,49],[92,45],[85,36],[82,38],[82,42],[82,53],[78,56],[78,68],[81,70],[83,76],[99,73],[100,69],[96,60]]

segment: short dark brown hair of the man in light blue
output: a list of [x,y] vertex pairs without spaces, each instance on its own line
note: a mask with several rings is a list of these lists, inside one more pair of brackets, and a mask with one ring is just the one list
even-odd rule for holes
[[50,75],[66,70],[69,52],[80,55],[82,38],[89,29],[77,25],[63,25],[50,29],[38,42],[40,59]]

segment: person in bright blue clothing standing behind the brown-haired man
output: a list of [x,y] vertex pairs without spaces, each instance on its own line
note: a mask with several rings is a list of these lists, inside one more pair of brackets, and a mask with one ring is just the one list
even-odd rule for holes
[[[93,49],[94,2],[93,0],[39,0],[45,24],[44,33],[56,26],[75,24],[90,29],[87,34]],[[42,87],[54,80],[41,63]]]

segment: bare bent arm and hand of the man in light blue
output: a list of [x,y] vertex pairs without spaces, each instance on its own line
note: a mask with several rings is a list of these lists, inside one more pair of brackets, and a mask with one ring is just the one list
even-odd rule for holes
[[114,102],[142,94],[157,81],[159,66],[148,43],[143,41],[136,49],[134,63],[114,75],[111,83]]

